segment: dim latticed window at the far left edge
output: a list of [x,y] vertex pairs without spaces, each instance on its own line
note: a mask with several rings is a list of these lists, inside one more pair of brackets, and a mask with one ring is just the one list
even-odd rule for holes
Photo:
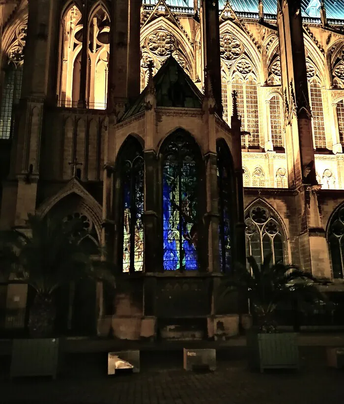
[[13,127],[13,106],[19,103],[22,90],[23,63],[9,62],[4,70],[0,99],[0,139],[10,139]]

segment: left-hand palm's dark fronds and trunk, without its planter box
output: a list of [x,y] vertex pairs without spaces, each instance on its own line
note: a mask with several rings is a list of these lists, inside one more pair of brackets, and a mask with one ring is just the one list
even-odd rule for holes
[[31,336],[54,332],[54,291],[63,284],[83,278],[115,285],[109,264],[94,261],[81,241],[82,222],[42,219],[29,215],[27,231],[4,231],[0,236],[2,275],[25,280],[36,295],[29,313]]

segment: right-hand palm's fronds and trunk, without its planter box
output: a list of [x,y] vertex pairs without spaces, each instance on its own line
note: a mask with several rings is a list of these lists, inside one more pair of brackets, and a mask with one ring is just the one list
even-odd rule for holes
[[275,311],[282,303],[316,304],[326,297],[316,286],[317,279],[296,265],[272,263],[272,255],[259,265],[254,257],[247,258],[250,268],[238,266],[225,283],[223,295],[239,289],[246,293],[262,332],[275,332]]

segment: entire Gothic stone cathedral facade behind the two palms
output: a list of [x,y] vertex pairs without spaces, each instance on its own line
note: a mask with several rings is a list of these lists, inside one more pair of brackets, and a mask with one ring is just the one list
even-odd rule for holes
[[1,0],[0,35],[0,229],[79,217],[118,272],[61,332],[235,335],[249,255],[344,291],[343,0]]

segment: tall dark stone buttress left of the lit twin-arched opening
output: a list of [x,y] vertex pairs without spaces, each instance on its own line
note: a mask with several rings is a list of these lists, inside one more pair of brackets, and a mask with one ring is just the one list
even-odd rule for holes
[[[29,3],[22,94],[11,151],[9,179],[13,182],[4,184],[2,198],[12,208],[2,210],[1,227],[4,223],[6,226],[24,226],[27,214],[36,210],[44,104],[55,100],[53,94],[56,94],[52,72],[56,71],[58,10],[55,0]],[[16,192],[13,192],[14,188]]]

